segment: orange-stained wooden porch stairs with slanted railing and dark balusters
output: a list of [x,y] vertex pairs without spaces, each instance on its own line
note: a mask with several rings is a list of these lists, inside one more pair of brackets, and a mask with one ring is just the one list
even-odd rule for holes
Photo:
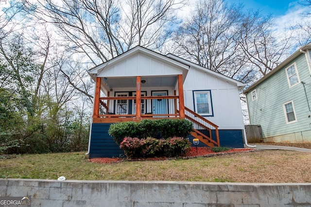
[[[185,107],[185,115],[186,119],[193,123],[193,130],[199,136],[202,137],[201,139],[197,137],[196,134],[192,134],[194,137],[200,139],[201,142],[207,144],[208,146],[220,146],[219,142],[219,132],[218,126],[214,123],[208,121],[206,118],[201,116],[200,114],[190,110],[189,108]],[[213,132],[214,131],[214,132]],[[207,132],[207,133],[203,133]]]

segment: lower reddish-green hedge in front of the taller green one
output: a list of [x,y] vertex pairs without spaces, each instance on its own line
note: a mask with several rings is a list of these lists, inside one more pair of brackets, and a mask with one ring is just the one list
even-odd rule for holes
[[188,139],[173,137],[138,139],[125,137],[120,144],[127,158],[180,157],[186,155],[191,147]]

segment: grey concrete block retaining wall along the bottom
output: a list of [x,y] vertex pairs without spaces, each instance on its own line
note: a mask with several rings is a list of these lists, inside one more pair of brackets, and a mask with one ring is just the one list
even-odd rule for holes
[[30,196],[32,207],[310,207],[311,183],[0,179],[4,196]]

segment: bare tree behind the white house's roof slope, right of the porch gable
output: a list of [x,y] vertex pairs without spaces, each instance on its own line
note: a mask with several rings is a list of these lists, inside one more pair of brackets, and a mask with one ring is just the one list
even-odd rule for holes
[[210,70],[234,77],[241,69],[235,44],[241,21],[241,5],[224,0],[198,1],[192,16],[173,36],[174,53]]

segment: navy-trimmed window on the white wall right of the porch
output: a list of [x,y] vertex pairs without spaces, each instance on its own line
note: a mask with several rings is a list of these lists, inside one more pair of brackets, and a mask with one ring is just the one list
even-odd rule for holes
[[208,91],[193,91],[195,112],[203,116],[212,116],[211,93]]

